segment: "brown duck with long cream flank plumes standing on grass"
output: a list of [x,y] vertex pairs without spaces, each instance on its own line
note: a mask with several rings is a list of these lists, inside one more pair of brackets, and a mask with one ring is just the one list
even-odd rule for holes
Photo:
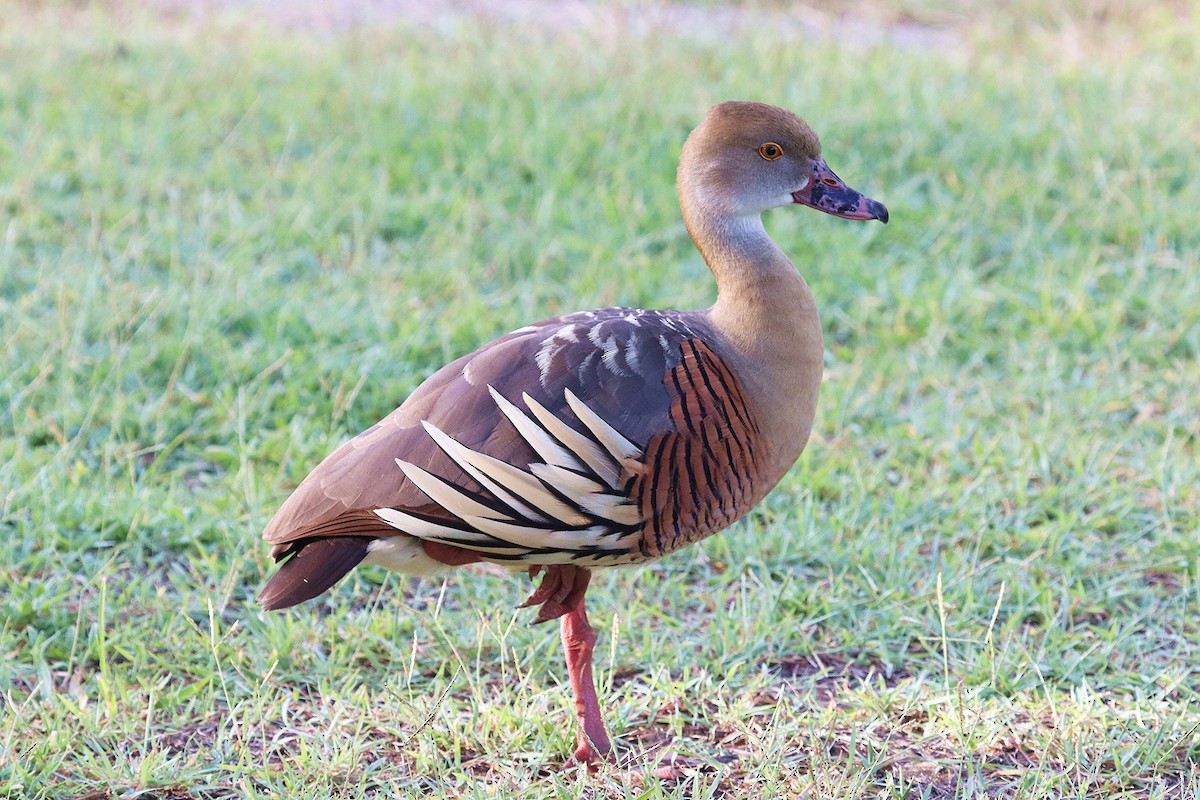
[[803,120],[762,103],[709,110],[684,144],[678,190],[716,303],[558,317],[439,369],[271,519],[264,537],[283,564],[264,608],[314,597],[362,561],[410,575],[480,560],[545,572],[524,604],[540,607],[538,621],[563,620],[575,758],[611,754],[583,607],[590,570],[726,528],[782,477],[812,425],[816,306],[762,211],[799,203],[887,222],[829,170]]

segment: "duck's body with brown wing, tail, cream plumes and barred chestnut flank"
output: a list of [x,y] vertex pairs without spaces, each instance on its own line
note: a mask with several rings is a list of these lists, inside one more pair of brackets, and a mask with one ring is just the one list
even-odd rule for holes
[[[388,417],[338,447],[280,509],[264,536],[276,560],[286,563],[260,602],[282,608],[317,596],[366,558],[372,540],[401,531],[476,549],[490,560],[592,566],[656,558],[725,528],[769,489],[755,477],[766,444],[758,443],[755,411],[740,383],[704,343],[706,335],[710,331],[700,315],[586,312],[515,331],[448,365]],[[462,461],[463,447],[532,475],[538,474],[534,467],[547,467],[547,457],[562,458],[553,451],[539,455],[535,441],[546,447],[551,435],[568,450],[586,445],[572,445],[566,433],[551,428],[522,433],[516,417],[505,415],[522,414],[518,403],[592,437],[601,450],[636,452],[632,461],[610,462],[624,465],[608,477],[590,474],[587,480],[608,481],[608,494],[581,495],[575,511],[563,506],[563,519],[578,516],[571,524],[559,527],[536,515],[470,522],[479,513],[472,509],[480,505],[497,512],[514,507],[510,499],[505,509],[496,494],[503,487],[484,486],[464,471],[469,458]],[[522,425],[534,423],[526,417]],[[586,449],[575,452],[583,457]],[[432,480],[430,475],[452,487],[430,486],[449,492],[437,501],[413,483]],[[479,480],[494,481],[496,475],[476,473]],[[528,491],[545,495],[565,479],[545,480],[545,488],[529,485]],[[560,486],[559,501],[577,491],[571,481]],[[551,507],[545,504],[553,498],[538,503]],[[632,505],[611,505],[622,503]]]

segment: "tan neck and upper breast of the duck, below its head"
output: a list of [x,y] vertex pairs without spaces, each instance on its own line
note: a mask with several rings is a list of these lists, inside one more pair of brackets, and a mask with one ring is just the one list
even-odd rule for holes
[[716,278],[708,318],[757,408],[778,481],[804,449],[823,371],[821,320],[808,283],[760,215],[696,217],[688,231]]

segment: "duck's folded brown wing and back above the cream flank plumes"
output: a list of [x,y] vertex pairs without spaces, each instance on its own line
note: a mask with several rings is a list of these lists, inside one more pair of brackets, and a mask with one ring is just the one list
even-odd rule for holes
[[680,357],[683,341],[695,336],[692,329],[703,323],[694,320],[691,326],[682,327],[656,312],[584,312],[515,331],[446,365],[384,420],[338,447],[296,487],[264,533],[275,546],[272,555],[286,558],[314,537],[396,535],[395,528],[371,519],[373,509],[404,509],[434,518],[444,515],[404,476],[396,458],[467,492],[482,493],[482,487],[430,438],[422,420],[467,447],[515,467],[526,468],[535,461],[536,453],[497,408],[488,385],[512,401],[528,392],[556,416],[581,428],[565,401],[570,390],[640,445],[670,432],[672,397],[664,377]]

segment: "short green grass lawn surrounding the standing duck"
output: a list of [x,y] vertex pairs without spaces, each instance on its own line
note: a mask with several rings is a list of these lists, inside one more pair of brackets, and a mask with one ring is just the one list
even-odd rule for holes
[[[6,5],[0,794],[1195,798],[1180,8],[930,50]],[[826,325],[814,440],[750,519],[589,593],[619,746],[704,765],[560,769],[526,582],[364,569],[259,613],[266,519],[444,361],[710,302],[673,174],[731,97],[805,115],[893,221],[769,215]]]

